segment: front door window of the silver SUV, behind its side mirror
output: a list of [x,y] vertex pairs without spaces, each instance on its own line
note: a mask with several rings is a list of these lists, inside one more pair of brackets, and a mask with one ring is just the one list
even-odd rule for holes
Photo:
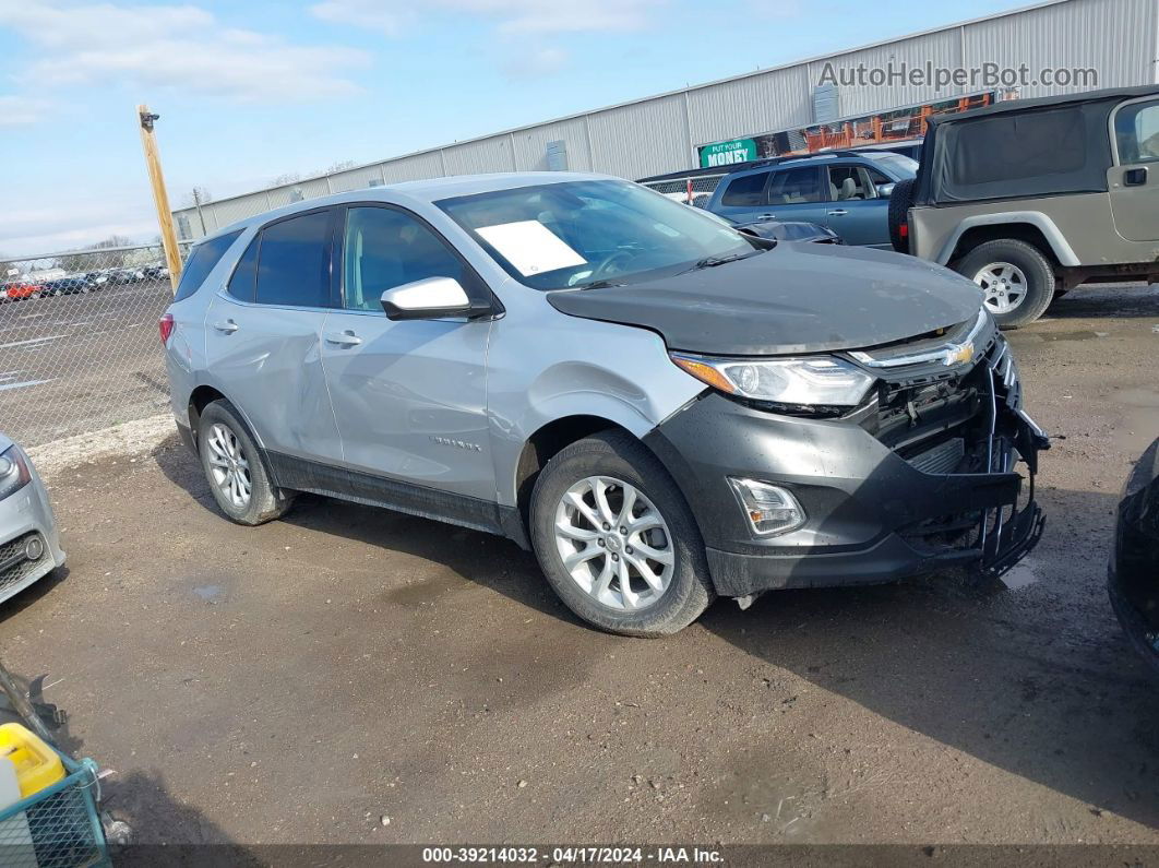
[[348,311],[381,311],[384,292],[429,277],[464,283],[462,263],[446,242],[414,217],[393,209],[349,209],[342,256]]

